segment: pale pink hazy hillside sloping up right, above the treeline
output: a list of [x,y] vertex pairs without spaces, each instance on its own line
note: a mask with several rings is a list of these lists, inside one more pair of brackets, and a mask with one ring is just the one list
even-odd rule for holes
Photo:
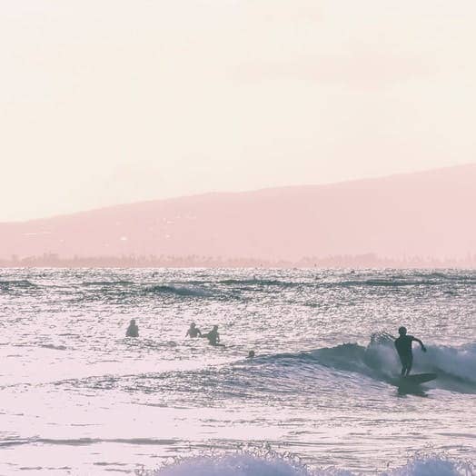
[[0,223],[0,258],[464,257],[476,253],[475,203],[476,164],[329,185],[208,193]]

